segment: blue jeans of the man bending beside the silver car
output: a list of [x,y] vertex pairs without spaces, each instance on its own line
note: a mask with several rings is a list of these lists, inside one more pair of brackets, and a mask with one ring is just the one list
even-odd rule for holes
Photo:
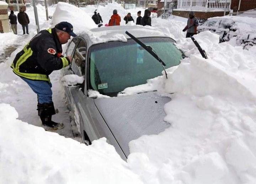
[[42,80],[30,80],[21,77],[30,88],[37,94],[39,104],[52,102],[52,83]]

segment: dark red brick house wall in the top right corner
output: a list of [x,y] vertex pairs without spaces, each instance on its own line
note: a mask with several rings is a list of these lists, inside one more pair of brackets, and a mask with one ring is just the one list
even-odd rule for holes
[[[231,0],[231,10],[236,12],[238,10],[239,0]],[[241,0],[240,10],[239,11],[247,11],[256,9],[256,0]]]

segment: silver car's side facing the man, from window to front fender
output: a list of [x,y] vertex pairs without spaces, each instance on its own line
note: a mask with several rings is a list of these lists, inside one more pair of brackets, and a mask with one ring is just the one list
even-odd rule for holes
[[82,139],[86,140],[89,138],[92,141],[105,137],[107,142],[112,144],[116,148],[119,155],[126,160],[123,151],[98,111],[94,103],[94,99],[87,96],[86,67],[88,65],[86,63],[86,41],[81,38],[77,46],[74,47],[73,52],[70,53],[71,55],[73,54],[70,70],[73,72],[73,74],[84,77],[84,82],[82,84],[68,88],[69,93],[71,94],[68,100],[72,104],[71,110],[73,111],[75,122],[78,128],[80,128],[79,131]]

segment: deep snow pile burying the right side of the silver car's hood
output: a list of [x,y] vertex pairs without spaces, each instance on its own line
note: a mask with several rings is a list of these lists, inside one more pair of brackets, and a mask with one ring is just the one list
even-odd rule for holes
[[194,38],[208,59],[190,38],[177,41],[190,58],[168,69],[168,79],[148,81],[172,98],[164,107],[171,127],[131,141],[128,163],[145,183],[255,183],[256,47],[218,44],[209,31]]

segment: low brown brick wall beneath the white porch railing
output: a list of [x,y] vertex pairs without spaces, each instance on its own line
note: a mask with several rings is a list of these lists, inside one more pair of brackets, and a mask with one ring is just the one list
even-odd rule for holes
[[[177,15],[180,17],[188,18],[188,13],[190,11],[177,11],[173,10],[172,15]],[[224,11],[214,11],[214,12],[208,12],[208,11],[194,11],[195,16],[197,18],[210,18],[210,17],[221,17],[224,16]],[[226,15],[228,15],[229,12],[226,12]]]

